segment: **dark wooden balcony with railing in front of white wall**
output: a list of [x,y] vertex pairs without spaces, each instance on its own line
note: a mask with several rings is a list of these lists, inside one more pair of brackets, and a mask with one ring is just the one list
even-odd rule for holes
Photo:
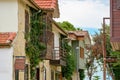
[[66,51],[64,49],[55,47],[53,49],[52,59],[50,60],[50,64],[56,66],[66,66],[65,54]]

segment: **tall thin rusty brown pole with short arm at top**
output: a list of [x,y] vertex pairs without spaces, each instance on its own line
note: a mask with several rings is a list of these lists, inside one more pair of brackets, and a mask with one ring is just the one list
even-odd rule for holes
[[106,80],[106,32],[105,32],[105,20],[110,19],[108,17],[103,18],[103,80]]

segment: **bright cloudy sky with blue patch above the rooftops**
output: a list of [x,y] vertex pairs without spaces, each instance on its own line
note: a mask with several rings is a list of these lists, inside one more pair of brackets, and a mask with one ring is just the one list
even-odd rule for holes
[[103,17],[109,17],[109,0],[58,0],[60,18],[75,27],[88,30],[91,35],[101,28]]

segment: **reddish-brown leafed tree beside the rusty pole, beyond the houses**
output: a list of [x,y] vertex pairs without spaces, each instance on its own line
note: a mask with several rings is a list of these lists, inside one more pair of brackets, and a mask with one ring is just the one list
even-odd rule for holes
[[[111,52],[111,46],[110,46],[110,41],[109,41],[109,26],[106,25],[106,49],[107,49],[107,55],[110,54]],[[97,65],[99,65],[99,67],[101,67],[102,69],[102,65],[101,63],[103,63],[103,33],[102,33],[102,29],[100,29],[100,34],[98,34],[96,32],[96,34],[93,36],[93,42],[94,44],[91,46],[91,53],[89,53],[88,56],[88,60],[87,60],[87,74],[89,77],[89,80],[91,80],[92,76],[94,75],[95,72],[97,72]]]

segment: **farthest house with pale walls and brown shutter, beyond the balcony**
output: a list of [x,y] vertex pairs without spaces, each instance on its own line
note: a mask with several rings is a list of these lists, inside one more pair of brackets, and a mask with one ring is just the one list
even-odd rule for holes
[[73,73],[72,80],[79,80],[79,70],[86,67],[86,56],[91,45],[91,39],[87,31],[69,31],[68,38],[71,39],[71,46],[75,53],[76,69]]

